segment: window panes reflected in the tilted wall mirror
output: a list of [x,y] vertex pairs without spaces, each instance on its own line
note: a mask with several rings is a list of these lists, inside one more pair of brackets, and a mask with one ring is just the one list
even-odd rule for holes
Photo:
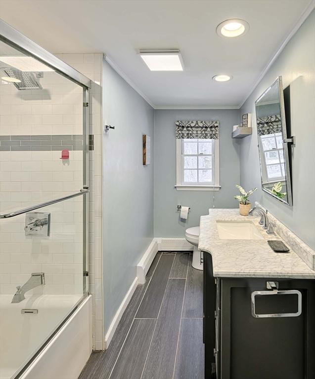
[[262,146],[263,180],[278,182],[285,180],[282,133],[273,133],[260,136]]

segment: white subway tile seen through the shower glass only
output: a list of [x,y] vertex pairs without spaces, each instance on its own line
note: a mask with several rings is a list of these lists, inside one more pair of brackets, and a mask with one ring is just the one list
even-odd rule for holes
[[[65,196],[83,185],[83,152],[71,151],[70,159],[64,161],[60,159],[62,147],[52,151],[56,135],[83,134],[82,88],[55,72],[45,73],[41,83],[43,90],[23,91],[12,83],[0,83],[1,111],[4,109],[0,115],[1,213]],[[53,108],[63,107],[68,94],[78,96],[65,108],[67,115],[71,112],[74,116],[71,124],[63,119],[62,108]],[[47,144],[49,151],[45,151]],[[43,271],[45,286],[29,293],[82,294],[83,199],[38,212],[50,212],[49,237],[25,236],[25,214],[0,222],[0,293],[13,295],[15,287],[24,284],[32,272]],[[76,247],[69,249],[73,244]]]

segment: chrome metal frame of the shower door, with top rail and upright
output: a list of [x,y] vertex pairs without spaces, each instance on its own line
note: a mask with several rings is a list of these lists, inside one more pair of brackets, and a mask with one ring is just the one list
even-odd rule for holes
[[[90,148],[89,148],[89,135],[90,135],[90,122],[89,122],[89,105],[90,102],[90,88],[91,80],[87,77],[55,57],[41,46],[37,45],[31,39],[25,37],[16,29],[5,23],[0,19],[0,40],[4,43],[12,46],[13,48],[25,53],[28,56],[33,56],[37,60],[43,62],[45,65],[51,67],[56,73],[67,77],[76,84],[82,87],[83,91],[83,295],[81,300],[71,309],[68,315],[52,329],[51,333],[47,336],[46,340],[40,345],[33,356],[26,362],[26,364],[17,372],[14,373],[12,379],[19,378],[23,372],[31,365],[35,358],[43,351],[45,346],[52,340],[52,338],[58,333],[67,320],[73,315],[76,309],[81,303],[89,296],[89,200],[90,197],[87,194],[90,192],[89,187],[89,162],[90,162]],[[78,196],[79,194],[70,195],[71,197]],[[69,196],[65,196],[69,198]],[[60,198],[52,200],[51,202],[61,202],[66,199]],[[24,210],[22,210],[25,213]],[[12,216],[14,217],[14,214]],[[4,217],[5,218],[5,217]]]

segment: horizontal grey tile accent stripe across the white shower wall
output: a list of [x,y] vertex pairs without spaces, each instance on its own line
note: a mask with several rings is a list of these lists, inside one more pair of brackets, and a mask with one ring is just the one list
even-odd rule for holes
[[83,150],[83,135],[0,136],[1,152]]

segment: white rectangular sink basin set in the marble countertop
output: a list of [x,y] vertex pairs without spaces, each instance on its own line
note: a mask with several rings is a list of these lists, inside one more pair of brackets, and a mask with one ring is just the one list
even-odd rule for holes
[[217,220],[220,239],[264,239],[251,221]]

